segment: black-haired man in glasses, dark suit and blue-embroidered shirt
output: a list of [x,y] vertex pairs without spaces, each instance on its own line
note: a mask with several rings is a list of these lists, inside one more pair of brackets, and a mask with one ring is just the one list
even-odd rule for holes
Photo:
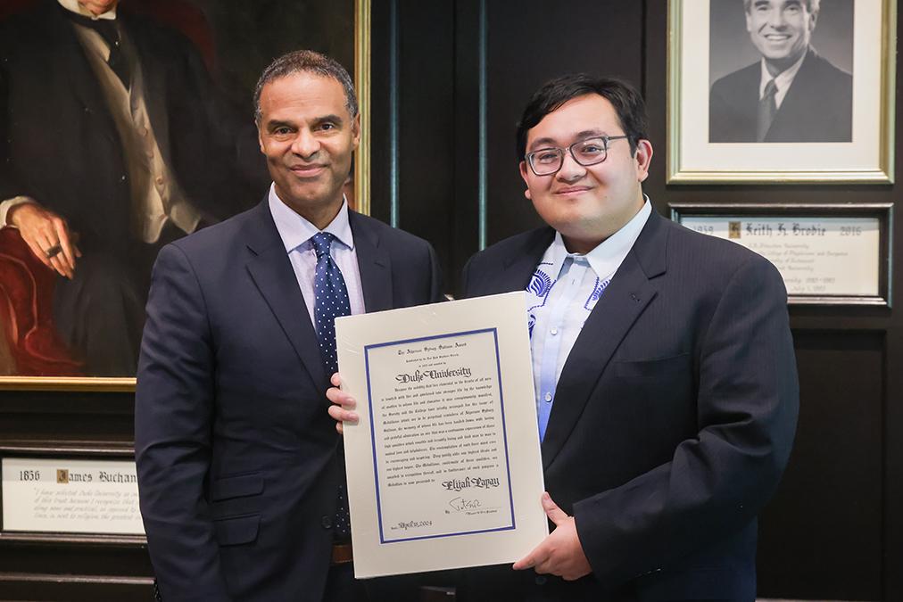
[[798,412],[787,292],[763,257],[658,216],[646,124],[636,90],[574,75],[518,126],[548,226],[474,255],[464,287],[527,292],[555,528],[511,568],[467,570],[462,601],[756,597],[756,516]]

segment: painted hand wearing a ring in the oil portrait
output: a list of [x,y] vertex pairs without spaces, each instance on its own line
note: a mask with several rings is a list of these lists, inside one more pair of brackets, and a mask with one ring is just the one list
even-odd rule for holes
[[19,234],[41,263],[71,280],[75,259],[81,256],[72,243],[66,220],[35,203],[22,203],[9,210],[6,221]]

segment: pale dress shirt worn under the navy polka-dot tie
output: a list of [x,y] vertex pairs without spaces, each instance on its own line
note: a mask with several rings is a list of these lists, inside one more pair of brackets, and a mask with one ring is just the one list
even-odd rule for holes
[[[294,277],[304,296],[307,313],[311,316],[311,323],[316,324],[317,321],[313,316],[313,277],[317,269],[317,254],[313,250],[311,238],[320,230],[295,213],[282,199],[279,199],[275,184],[270,186],[269,205],[276,229],[285,245],[285,252],[292,262]],[[360,287],[358,254],[354,248],[354,236],[351,235],[351,226],[348,222],[348,202],[346,200],[342,201],[339,214],[322,231],[329,232],[336,237],[336,240],[330,245],[330,255],[333,261],[339,265],[342,278],[345,280],[351,315],[364,313],[364,292]]]

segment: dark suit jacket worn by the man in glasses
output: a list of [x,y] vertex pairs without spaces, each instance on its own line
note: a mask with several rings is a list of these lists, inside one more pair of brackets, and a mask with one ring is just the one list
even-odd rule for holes
[[[466,294],[524,290],[553,237],[475,255]],[[563,366],[542,443],[546,489],[575,517],[592,574],[477,570],[472,597],[753,600],[756,515],[797,411],[777,269],[653,211]]]

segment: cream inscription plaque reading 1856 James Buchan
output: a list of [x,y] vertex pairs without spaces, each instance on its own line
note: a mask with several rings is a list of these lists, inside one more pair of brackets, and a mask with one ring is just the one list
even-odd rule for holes
[[135,462],[3,458],[4,531],[144,534]]

